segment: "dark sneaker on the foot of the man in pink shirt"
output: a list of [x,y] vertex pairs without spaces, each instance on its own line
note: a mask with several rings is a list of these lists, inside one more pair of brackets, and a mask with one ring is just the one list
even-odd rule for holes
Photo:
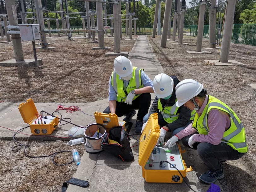
[[216,171],[208,171],[204,174],[202,174],[199,178],[200,181],[207,183],[207,184],[212,184],[218,179],[224,178],[224,171],[223,168],[221,167],[219,170]]

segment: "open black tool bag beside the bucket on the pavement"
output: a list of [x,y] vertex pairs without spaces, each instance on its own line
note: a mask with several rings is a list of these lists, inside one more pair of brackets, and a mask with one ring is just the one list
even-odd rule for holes
[[[108,139],[114,140],[119,144],[109,144]],[[134,156],[130,145],[131,138],[122,126],[109,129],[109,133],[102,138],[101,147],[108,153],[123,161],[132,161]]]

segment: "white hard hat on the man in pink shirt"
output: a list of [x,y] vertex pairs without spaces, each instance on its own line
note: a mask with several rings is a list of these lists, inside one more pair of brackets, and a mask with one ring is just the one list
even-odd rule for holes
[[193,79],[185,79],[179,82],[176,86],[176,106],[180,107],[181,105],[188,102],[190,99],[199,95],[203,88],[203,84]]

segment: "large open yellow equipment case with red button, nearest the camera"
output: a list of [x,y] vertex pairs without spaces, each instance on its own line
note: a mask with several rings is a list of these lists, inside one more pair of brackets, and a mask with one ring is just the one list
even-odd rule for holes
[[[142,167],[142,176],[148,183],[182,183],[183,178],[177,169],[186,177],[192,167],[186,167],[178,144],[171,148],[156,146],[159,135],[158,115],[154,113],[150,115],[139,140],[139,165]],[[169,161],[177,169],[166,162],[160,167],[160,161]]]

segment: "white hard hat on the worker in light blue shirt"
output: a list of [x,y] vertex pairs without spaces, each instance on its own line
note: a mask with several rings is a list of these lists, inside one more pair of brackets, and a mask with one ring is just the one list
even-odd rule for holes
[[118,56],[114,60],[114,71],[120,77],[129,76],[133,71],[131,61],[124,56]]

